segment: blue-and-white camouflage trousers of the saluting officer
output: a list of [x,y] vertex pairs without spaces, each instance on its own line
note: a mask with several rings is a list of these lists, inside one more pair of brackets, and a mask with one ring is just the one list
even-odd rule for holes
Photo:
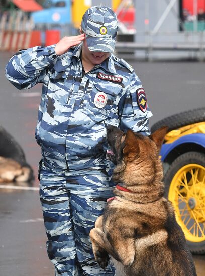
[[95,262],[89,232],[113,196],[110,177],[100,168],[53,172],[41,168],[40,200],[47,252],[55,275],[115,275]]

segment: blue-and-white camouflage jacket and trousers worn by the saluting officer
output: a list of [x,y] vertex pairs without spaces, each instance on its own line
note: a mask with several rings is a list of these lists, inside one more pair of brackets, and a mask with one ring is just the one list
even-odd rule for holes
[[6,67],[6,77],[18,89],[43,84],[35,136],[42,149],[48,256],[56,275],[113,275],[112,267],[102,270],[94,261],[89,240],[114,186],[106,126],[147,135],[152,114],[139,78],[123,59],[111,54],[83,74],[82,44],[61,56],[54,48],[20,51]]

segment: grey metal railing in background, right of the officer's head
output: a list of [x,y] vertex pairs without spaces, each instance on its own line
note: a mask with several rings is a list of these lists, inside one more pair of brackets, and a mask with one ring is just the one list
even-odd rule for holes
[[[134,42],[136,40],[136,42]],[[138,42],[139,41],[139,42]],[[154,53],[170,52],[170,56],[174,56],[177,52],[188,54],[187,57],[192,57],[200,61],[205,60],[205,34],[204,32],[137,32],[136,37],[133,36],[133,42],[117,42],[116,52],[125,55],[126,57],[137,58],[141,52],[141,57],[148,60],[154,59]],[[129,54],[131,53],[131,54]],[[171,55],[172,53],[172,55]],[[156,57],[156,56],[155,56]]]

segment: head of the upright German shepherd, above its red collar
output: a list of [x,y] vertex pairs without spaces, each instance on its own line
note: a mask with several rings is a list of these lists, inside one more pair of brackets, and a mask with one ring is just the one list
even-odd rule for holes
[[162,174],[161,167],[159,170],[156,167],[161,166],[158,154],[167,131],[168,127],[164,126],[151,136],[143,136],[132,130],[124,133],[117,127],[109,126],[107,141],[110,150],[107,151],[107,157],[117,165],[114,181],[126,183],[126,177],[133,175],[132,179],[129,178],[132,185],[135,181],[152,181],[158,171]]

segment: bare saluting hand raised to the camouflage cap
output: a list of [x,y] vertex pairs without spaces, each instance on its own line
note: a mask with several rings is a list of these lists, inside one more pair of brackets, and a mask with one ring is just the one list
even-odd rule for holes
[[79,36],[73,36],[73,37],[63,37],[55,47],[55,52],[58,56],[65,54],[70,47],[75,46],[79,44],[81,41],[83,41],[85,38],[85,34],[81,34]]

